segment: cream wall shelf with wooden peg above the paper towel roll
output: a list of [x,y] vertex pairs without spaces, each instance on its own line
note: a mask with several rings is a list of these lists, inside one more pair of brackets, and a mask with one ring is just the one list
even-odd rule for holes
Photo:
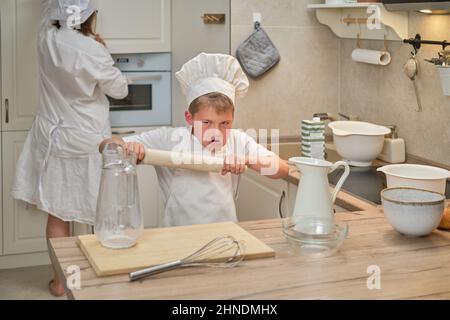
[[[367,27],[369,6],[380,10],[380,29],[370,30]],[[403,41],[408,38],[408,12],[387,11],[381,3],[345,3],[345,4],[309,4],[308,9],[316,10],[320,23],[330,29],[340,38],[370,40]]]

